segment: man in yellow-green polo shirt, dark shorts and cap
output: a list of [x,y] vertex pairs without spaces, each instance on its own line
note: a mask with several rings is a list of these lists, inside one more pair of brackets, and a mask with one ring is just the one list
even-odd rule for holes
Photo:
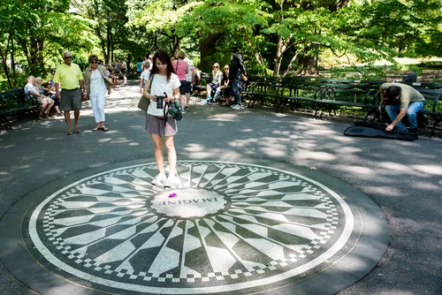
[[[84,87],[83,74],[80,70],[80,66],[72,63],[71,52],[63,52],[63,59],[65,60],[65,63],[58,66],[57,72],[54,76],[54,82],[56,83],[57,98],[60,98],[60,108],[65,110],[67,135],[71,135],[71,110],[73,110],[74,115],[74,131],[80,133],[79,118],[81,110],[81,95],[82,93],[86,95],[86,89]],[[61,95],[58,91],[60,84],[63,88]]]

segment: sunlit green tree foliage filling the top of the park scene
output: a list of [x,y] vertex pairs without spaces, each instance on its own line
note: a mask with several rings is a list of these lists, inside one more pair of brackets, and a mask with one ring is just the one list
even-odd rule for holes
[[243,53],[253,73],[317,73],[327,51],[362,63],[431,57],[442,48],[440,0],[3,0],[0,61],[44,74],[61,52],[142,57],[157,48],[201,57]]

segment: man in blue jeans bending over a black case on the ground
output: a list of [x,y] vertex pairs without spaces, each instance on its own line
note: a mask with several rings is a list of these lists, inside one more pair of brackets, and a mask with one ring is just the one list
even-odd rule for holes
[[392,121],[385,128],[391,132],[393,128],[407,132],[407,127],[401,122],[407,116],[410,132],[417,132],[416,113],[423,109],[425,99],[415,88],[401,83],[384,83],[380,87],[381,106]]

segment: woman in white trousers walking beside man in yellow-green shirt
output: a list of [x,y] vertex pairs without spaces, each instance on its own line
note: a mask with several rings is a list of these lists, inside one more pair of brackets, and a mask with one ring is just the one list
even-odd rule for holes
[[109,131],[109,129],[104,126],[104,102],[106,92],[110,95],[110,89],[113,83],[109,79],[106,67],[103,66],[103,64],[98,64],[98,57],[95,54],[89,57],[89,64],[84,72],[84,83],[97,124],[93,131]]

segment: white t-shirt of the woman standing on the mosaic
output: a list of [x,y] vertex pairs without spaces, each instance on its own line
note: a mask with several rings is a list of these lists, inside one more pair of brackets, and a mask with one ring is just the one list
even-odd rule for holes
[[[150,72],[147,75],[148,80],[150,77]],[[152,85],[150,86],[149,93],[150,95],[162,95],[164,96],[164,92],[167,96],[173,96],[173,89],[179,88],[181,86],[181,82],[179,82],[179,78],[176,74],[171,73],[171,79],[167,80],[167,76],[160,76],[156,74],[152,80]],[[163,109],[165,103],[163,102]],[[164,117],[164,110],[156,109],[156,102],[150,100],[148,115],[156,116],[156,117]]]

